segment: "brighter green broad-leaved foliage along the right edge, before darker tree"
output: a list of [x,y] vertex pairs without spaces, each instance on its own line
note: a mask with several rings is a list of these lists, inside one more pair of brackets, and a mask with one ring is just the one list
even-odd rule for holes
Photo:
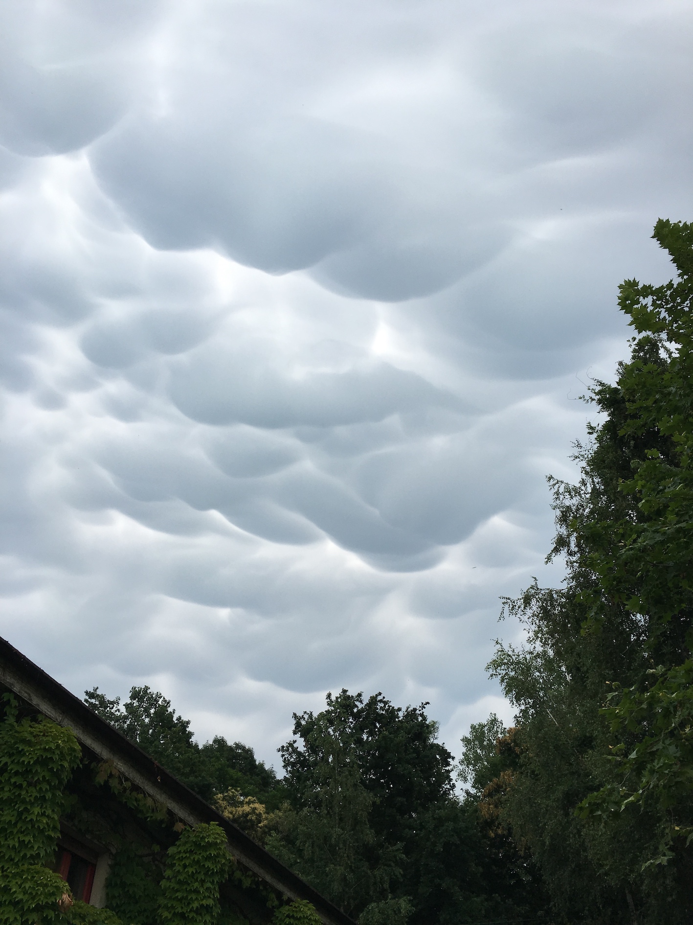
[[661,814],[663,838],[648,863],[666,864],[687,857],[693,840],[693,226],[660,220],[654,237],[678,279],[621,287],[639,337],[619,387],[624,434],[661,439],[621,485],[638,516],[593,524],[588,556],[601,591],[589,601],[590,625],[601,626],[605,600],[622,602],[641,624],[649,667],[635,684],[612,685],[603,712],[620,739],[615,773],[583,808],[605,822],[632,805]]

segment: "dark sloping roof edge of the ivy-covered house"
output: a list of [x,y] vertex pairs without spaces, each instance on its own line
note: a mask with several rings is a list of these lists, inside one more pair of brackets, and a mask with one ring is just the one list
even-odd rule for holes
[[273,855],[157,764],[149,755],[102,720],[79,697],[70,694],[38,665],[0,637],[0,683],[61,726],[68,726],[79,742],[145,793],[164,803],[189,825],[216,822],[226,834],[231,854],[253,873],[291,899],[307,899],[327,925],[354,925],[331,902],[288,870]]

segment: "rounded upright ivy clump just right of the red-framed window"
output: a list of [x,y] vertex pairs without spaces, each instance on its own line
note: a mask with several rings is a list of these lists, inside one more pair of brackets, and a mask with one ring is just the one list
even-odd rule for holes
[[180,834],[167,852],[159,917],[164,925],[214,925],[219,885],[230,866],[224,829],[201,823]]

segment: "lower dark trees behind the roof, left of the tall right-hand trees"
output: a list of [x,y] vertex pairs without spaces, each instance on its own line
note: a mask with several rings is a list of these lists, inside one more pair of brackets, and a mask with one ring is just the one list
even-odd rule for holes
[[[148,687],[124,704],[94,688],[86,702],[361,925],[548,920],[529,857],[476,795],[455,795],[426,704],[328,695],[322,712],[295,716],[277,779],[249,746],[197,745]],[[495,741],[487,753],[494,768]]]

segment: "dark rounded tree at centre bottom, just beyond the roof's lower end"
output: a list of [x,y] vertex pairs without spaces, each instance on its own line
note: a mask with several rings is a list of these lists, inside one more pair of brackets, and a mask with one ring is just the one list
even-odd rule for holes
[[299,741],[280,749],[292,808],[267,845],[363,925],[520,918],[426,706],[342,690],[295,715]]

